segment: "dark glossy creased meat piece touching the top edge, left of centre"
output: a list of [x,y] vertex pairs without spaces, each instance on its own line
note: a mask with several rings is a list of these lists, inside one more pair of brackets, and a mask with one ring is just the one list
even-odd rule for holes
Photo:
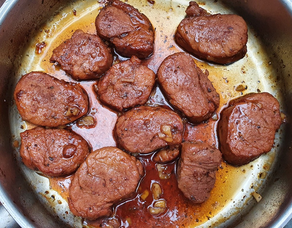
[[136,8],[110,0],[95,20],[97,34],[110,41],[119,54],[148,57],[154,50],[154,29],[149,19]]

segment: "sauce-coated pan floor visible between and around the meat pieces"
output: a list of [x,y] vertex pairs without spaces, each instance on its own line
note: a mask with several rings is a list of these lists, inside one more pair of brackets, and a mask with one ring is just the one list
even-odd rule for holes
[[[174,34],[176,27],[185,17],[188,1],[128,0],[127,3],[144,13],[155,28],[155,50],[150,58],[143,60],[143,64],[156,73],[164,58],[175,52],[183,51],[175,43]],[[230,13],[230,11],[219,5],[219,3],[214,3],[214,1],[207,1],[206,4],[201,3],[201,5],[204,5],[204,8],[208,10],[216,9],[215,11],[211,10],[212,13]],[[27,59],[20,67],[18,75],[31,71],[44,71],[58,79],[74,81],[58,65],[50,63],[49,59],[53,49],[65,39],[70,38],[76,29],[96,34],[94,22],[102,6],[96,1],[90,0],[76,1],[74,5],[63,8],[32,38],[32,43],[27,50],[28,57],[25,57]],[[220,94],[220,107],[216,110],[217,114],[228,100],[246,93],[256,92],[257,89],[268,91],[272,94],[276,93],[271,91],[273,86],[276,88],[274,80],[265,78],[265,75],[270,76],[272,74],[272,69],[268,65],[265,68],[262,67],[263,62],[269,61],[264,56],[265,53],[261,51],[260,41],[257,40],[250,28],[248,36],[248,53],[246,57],[231,65],[213,65],[194,58],[198,67],[203,71],[205,69],[209,71],[208,78],[213,82],[214,87]],[[256,45],[254,45],[255,43]],[[40,44],[42,44],[41,47]],[[117,58],[125,59],[120,56]],[[255,61],[255,59],[260,61]],[[95,83],[96,81],[79,82],[80,86],[88,93],[91,105],[88,115],[93,116],[95,125],[80,127],[77,122],[74,122],[67,127],[86,139],[92,150],[105,146],[116,146],[112,131],[117,120],[117,113],[100,104],[93,90]],[[243,91],[236,91],[239,85],[243,85]],[[159,86],[156,86],[152,91],[147,105],[169,106]],[[218,118],[220,118],[219,114]],[[217,122],[212,119],[198,125],[185,122],[184,140],[201,140],[218,147],[216,138]],[[34,126],[27,123],[24,127],[29,129]],[[253,166],[256,161],[241,167],[229,166],[223,162],[216,174],[217,179],[210,198],[204,203],[194,204],[187,200],[178,189],[175,176],[177,161],[163,165],[170,178],[161,180],[158,176],[157,165],[151,160],[151,156],[152,154],[137,156],[144,164],[146,175],[140,182],[134,199],[126,200],[114,208],[113,217],[119,221],[120,227],[194,227],[202,224],[211,226],[216,222],[224,222],[233,213],[237,213],[237,210],[244,207],[244,202],[251,197],[250,186],[254,182],[251,176],[257,174],[254,172],[256,168],[262,169],[260,166],[258,166],[260,168]],[[272,163],[274,152],[270,152],[270,155],[264,155],[263,159],[265,163]],[[49,180],[51,188],[67,200],[71,177],[49,178]],[[166,200],[166,210],[158,216],[152,216],[148,211],[148,207],[153,204],[153,196],[150,189],[153,182],[159,183],[163,191],[161,199]],[[245,183],[244,185],[240,184],[240,186],[245,187],[239,188],[239,183]],[[253,187],[256,189],[257,183],[254,183]],[[140,195],[145,190],[149,192],[149,195],[145,200],[142,200]],[[68,210],[67,207],[64,207],[63,211],[60,211],[59,217],[63,217],[65,211],[67,212]],[[212,220],[212,218],[215,220]],[[72,222],[69,219],[66,220],[65,217],[64,220],[68,223]],[[78,220],[74,225],[81,227],[81,220]],[[84,221],[83,226],[109,227],[107,219]]]

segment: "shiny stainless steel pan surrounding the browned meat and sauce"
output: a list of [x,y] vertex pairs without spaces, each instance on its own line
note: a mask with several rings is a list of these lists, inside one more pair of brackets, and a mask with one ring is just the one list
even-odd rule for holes
[[[128,2],[133,3],[134,6],[144,4],[143,10],[148,9],[147,1],[129,0]],[[160,10],[170,13],[170,17],[173,11],[170,11],[170,8],[187,4],[187,1],[178,0],[156,2],[157,5],[164,7]],[[236,191],[237,198],[240,198],[243,194],[241,186],[253,183],[263,199],[260,203],[256,203],[252,197],[246,197],[244,201],[240,201],[241,203],[231,203],[227,211],[221,213],[221,217],[214,216],[208,224],[213,227],[283,227],[292,216],[290,118],[292,114],[292,2],[290,0],[218,0],[214,3],[213,0],[206,0],[204,3],[206,3],[204,7],[213,13],[235,12],[249,25],[247,60],[226,67],[213,66],[197,60],[202,68],[210,72],[215,87],[221,91],[223,101],[228,100],[228,96],[231,99],[239,95],[234,90],[229,90],[230,86],[224,83],[229,80],[229,83],[233,82],[236,86],[236,83],[240,83],[241,78],[244,78],[248,79],[245,80],[248,85],[248,90],[245,92],[253,92],[259,88],[272,93],[279,99],[281,111],[287,117],[286,123],[276,135],[275,148],[254,163],[259,165],[258,170],[257,167],[252,171],[249,170],[248,172],[253,174],[252,177],[248,181],[239,183]],[[21,227],[81,226],[80,220],[70,213],[62,216],[66,209],[65,203],[62,207],[52,202],[48,203],[49,200],[42,195],[49,186],[46,178],[27,170],[19,161],[18,151],[13,147],[12,142],[19,138],[20,120],[15,107],[11,105],[11,94],[15,83],[25,70],[24,66],[20,65],[25,58],[21,54],[25,53],[32,36],[39,32],[44,24],[49,24],[50,18],[54,18],[54,15],[57,17],[60,12],[66,13],[68,10],[66,6],[82,7],[82,4],[85,4],[84,1],[78,0],[7,0],[0,9],[0,201]],[[176,11],[183,12],[183,9]],[[158,22],[155,23],[159,20],[157,12],[150,10],[143,13],[150,17],[154,27],[158,27],[156,30],[158,33],[160,25]],[[180,21],[184,15],[181,13],[177,21]],[[177,26],[177,21],[172,20],[161,26],[168,27],[171,34],[174,31],[171,29]],[[169,37],[167,42],[172,42],[172,37]],[[180,50],[177,46],[175,48],[174,51]],[[26,70],[35,67],[29,63],[22,64],[26,66]],[[154,70],[156,69],[157,65],[152,64],[151,61],[149,64]],[[240,68],[243,67],[242,64],[246,64],[243,69]],[[247,74],[244,75],[243,71],[247,71]],[[225,72],[228,80],[218,72]],[[219,80],[219,77],[223,79]],[[257,84],[257,81],[261,81],[261,84]],[[271,163],[270,170],[267,170],[265,179],[259,180],[257,174],[262,171],[263,164],[267,161]],[[253,189],[248,188],[244,193],[250,196],[252,191]],[[62,200],[61,197],[59,198]],[[237,198],[234,197],[234,202]],[[5,213],[3,208],[0,213]],[[1,220],[0,224],[4,222]],[[13,226],[12,224],[11,227]]]

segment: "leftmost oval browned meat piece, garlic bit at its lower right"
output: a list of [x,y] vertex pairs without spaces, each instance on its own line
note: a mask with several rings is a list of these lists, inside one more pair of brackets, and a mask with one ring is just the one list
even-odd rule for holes
[[41,126],[65,125],[88,112],[88,97],[79,85],[42,72],[22,76],[14,99],[21,118]]

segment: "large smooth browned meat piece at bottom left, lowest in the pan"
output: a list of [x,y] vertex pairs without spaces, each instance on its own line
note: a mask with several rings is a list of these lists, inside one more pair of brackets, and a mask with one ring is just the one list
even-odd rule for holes
[[112,205],[130,198],[144,175],[142,163],[116,147],[92,152],[75,173],[69,187],[69,208],[76,216],[109,216]]

